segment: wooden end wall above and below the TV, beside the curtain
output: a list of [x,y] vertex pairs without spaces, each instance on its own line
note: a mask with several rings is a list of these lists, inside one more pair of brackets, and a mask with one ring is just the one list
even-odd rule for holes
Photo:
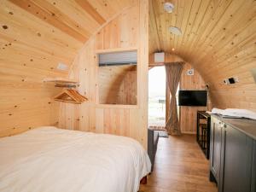
[[[180,81],[180,90],[205,90],[206,84],[201,78],[201,74],[194,69],[194,75],[187,75],[188,69],[193,68],[186,63]],[[197,111],[206,111],[207,107],[180,107],[180,124],[183,133],[196,133]]]

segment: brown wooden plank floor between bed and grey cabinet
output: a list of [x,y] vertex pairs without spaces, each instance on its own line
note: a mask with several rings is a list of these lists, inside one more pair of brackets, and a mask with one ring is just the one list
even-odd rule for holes
[[209,165],[195,136],[160,137],[154,172],[140,192],[217,192],[209,182]]

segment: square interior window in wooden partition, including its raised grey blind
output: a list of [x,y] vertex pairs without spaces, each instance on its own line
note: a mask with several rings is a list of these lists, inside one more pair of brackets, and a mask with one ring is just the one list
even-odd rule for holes
[[137,105],[137,51],[99,54],[99,103]]

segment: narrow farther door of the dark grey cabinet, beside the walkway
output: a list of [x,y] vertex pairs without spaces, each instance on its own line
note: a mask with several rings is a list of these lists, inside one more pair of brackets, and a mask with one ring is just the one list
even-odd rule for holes
[[211,125],[211,143],[210,143],[210,160],[211,172],[217,183],[219,182],[220,171],[220,151],[221,151],[221,122],[212,118]]

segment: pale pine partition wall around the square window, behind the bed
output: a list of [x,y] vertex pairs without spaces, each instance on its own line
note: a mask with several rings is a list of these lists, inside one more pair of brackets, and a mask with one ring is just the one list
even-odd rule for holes
[[[99,104],[96,55],[125,49],[138,51],[137,105]],[[82,105],[61,103],[61,128],[133,137],[147,148],[148,1],[137,1],[90,38],[76,56],[70,77],[79,80],[79,92],[89,101]]]

